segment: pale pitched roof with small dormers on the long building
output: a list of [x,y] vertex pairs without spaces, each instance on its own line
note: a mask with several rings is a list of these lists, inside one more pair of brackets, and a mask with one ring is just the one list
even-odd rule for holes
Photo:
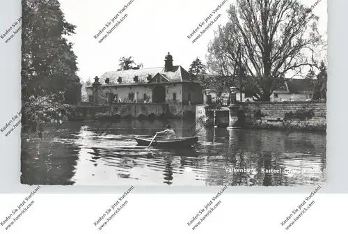
[[[121,70],[116,72],[105,72],[99,79],[100,83],[105,86],[118,85],[118,77],[122,77],[122,85],[125,84],[148,84],[148,76],[155,77],[157,74],[168,79],[169,82],[174,81],[191,81],[189,72],[184,70],[182,66],[175,65],[173,70],[164,72],[164,67],[144,68],[138,70]],[[134,81],[134,77],[138,76],[138,82]],[[105,84],[105,79],[109,78],[109,84]],[[193,79],[193,81],[198,81]]]

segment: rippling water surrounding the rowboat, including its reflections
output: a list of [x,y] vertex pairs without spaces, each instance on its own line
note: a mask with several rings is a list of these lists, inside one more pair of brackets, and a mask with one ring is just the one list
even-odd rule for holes
[[[170,123],[177,136],[196,127],[187,120],[119,120],[45,125],[42,139],[22,139],[22,183],[30,185],[322,185],[326,134],[202,128],[191,149],[119,150],[134,135]],[[198,127],[197,127],[198,128]],[[191,131],[189,131],[191,129]],[[238,171],[242,169],[242,171]],[[270,170],[278,171],[270,171]]]

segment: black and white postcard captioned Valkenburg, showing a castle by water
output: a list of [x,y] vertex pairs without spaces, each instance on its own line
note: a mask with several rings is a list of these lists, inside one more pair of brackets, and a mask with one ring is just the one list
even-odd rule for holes
[[21,182],[326,182],[326,0],[22,0]]

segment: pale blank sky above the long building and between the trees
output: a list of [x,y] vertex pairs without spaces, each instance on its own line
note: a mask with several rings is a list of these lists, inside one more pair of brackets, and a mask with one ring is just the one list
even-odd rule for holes
[[[60,0],[66,20],[77,26],[76,34],[68,39],[74,43],[78,75],[84,81],[117,70],[122,56],[133,56],[144,68],[164,66],[168,52],[173,55],[174,65],[182,65],[187,70],[197,56],[205,62],[207,44],[214,38],[218,25],[226,24],[226,10],[234,1],[229,0],[219,10],[222,16],[193,44],[187,36],[223,0],[134,0],[119,14],[118,20],[127,14],[125,20],[101,43],[98,40],[109,29],[98,40],[94,36],[129,0]],[[316,0],[301,1],[311,6]],[[327,1],[322,0],[313,10],[320,17],[322,33],[326,32],[326,5]]]

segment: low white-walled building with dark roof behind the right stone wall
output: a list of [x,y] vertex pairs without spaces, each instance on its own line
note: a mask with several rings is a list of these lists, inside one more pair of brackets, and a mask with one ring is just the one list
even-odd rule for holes
[[314,82],[312,79],[285,79],[272,94],[271,102],[306,101],[313,98]]

